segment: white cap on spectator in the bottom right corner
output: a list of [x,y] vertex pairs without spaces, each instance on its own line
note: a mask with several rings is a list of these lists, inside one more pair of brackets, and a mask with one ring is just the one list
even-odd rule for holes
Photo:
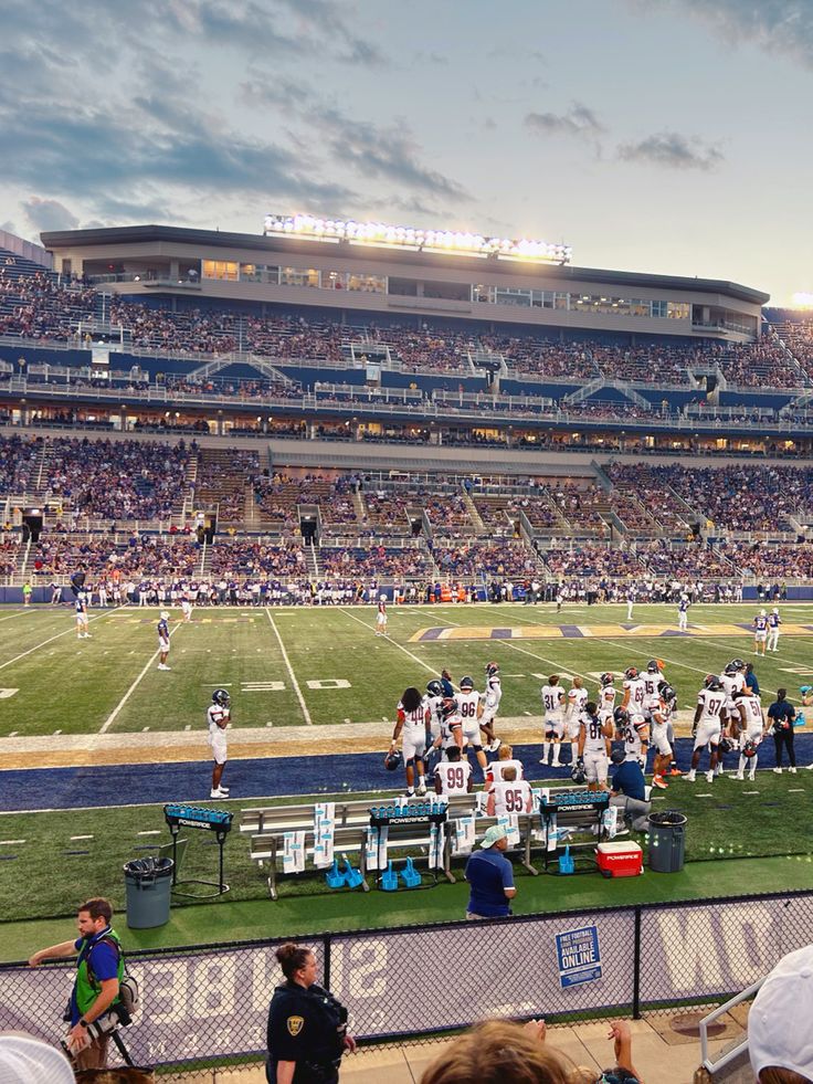
[[789,953],[760,987],[748,1015],[748,1051],[759,1076],[777,1065],[813,1080],[813,945]]

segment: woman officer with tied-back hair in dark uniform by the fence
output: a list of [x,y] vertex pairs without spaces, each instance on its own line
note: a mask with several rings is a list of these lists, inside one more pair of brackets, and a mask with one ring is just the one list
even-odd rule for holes
[[268,1009],[271,1084],[337,1084],[341,1055],[356,1050],[347,1009],[316,985],[316,957],[288,941],[276,950],[286,981]]

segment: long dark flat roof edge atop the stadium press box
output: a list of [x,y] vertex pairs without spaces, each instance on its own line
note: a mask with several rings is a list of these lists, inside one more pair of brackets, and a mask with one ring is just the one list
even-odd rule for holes
[[[289,252],[289,253],[313,253],[320,251],[324,254],[341,252],[341,255],[360,257],[365,254],[363,248],[346,248],[346,242],[339,244],[324,243],[318,241],[300,241],[294,238],[264,236],[255,233],[225,233],[220,230],[188,230],[173,225],[123,225],[109,227],[97,230],[53,230],[41,233],[42,244],[50,251],[60,249],[77,249],[83,246],[96,245],[127,245],[145,244],[150,242],[169,242],[176,244],[188,244],[207,249],[250,249],[258,252]],[[368,255],[376,253],[376,249],[370,249]],[[380,252],[378,253],[381,254]],[[405,267],[421,266],[453,266],[466,267],[467,270],[482,271],[484,265],[489,266],[488,260],[483,261],[476,257],[471,260],[464,256],[446,256],[437,253],[422,252],[395,252],[388,250],[387,260],[402,263]],[[511,270],[524,275],[534,275],[541,278],[551,278],[557,282],[572,280],[574,282],[605,283],[615,286],[661,286],[666,290],[691,290],[699,293],[726,294],[739,301],[750,302],[756,305],[764,305],[770,301],[770,294],[739,283],[726,282],[719,278],[689,278],[683,275],[652,275],[643,272],[630,271],[605,271],[595,267],[573,267],[571,265],[548,265],[548,264],[526,264],[517,262],[510,269],[506,264],[500,265],[500,271]]]

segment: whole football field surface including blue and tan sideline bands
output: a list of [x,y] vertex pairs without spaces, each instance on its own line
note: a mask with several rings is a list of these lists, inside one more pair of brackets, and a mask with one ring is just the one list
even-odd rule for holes
[[[780,650],[767,659],[753,655],[754,612],[753,606],[698,606],[688,633],[680,634],[674,608],[665,606],[635,607],[632,621],[625,606],[566,606],[561,613],[541,604],[390,607],[388,635],[376,636],[373,607],[196,610],[189,623],[172,614],[171,670],[161,672],[155,610],[93,611],[92,639],[82,641],[67,608],[0,611],[3,917],[70,914],[88,891],[122,907],[122,863],[168,839],[161,803],[208,800],[205,711],[218,686],[229,690],[233,708],[224,780],[232,798],[218,804],[234,812],[235,827],[241,809],[272,800],[400,789],[401,773],[384,771],[382,756],[403,690],[423,688],[444,667],[455,682],[471,674],[483,687],[490,661],[500,666],[504,690],[498,733],[513,741],[529,779],[570,782],[568,769],[538,764],[539,687],[551,673],[566,687],[570,676],[581,675],[592,695],[603,671],[615,673],[621,687],[626,666],[645,666],[653,657],[678,693],[678,762],[685,768],[696,694],[707,673],[719,673],[736,656],[754,662],[764,706],[780,686],[799,704],[799,686],[813,683],[813,606],[781,607]],[[801,766],[813,759],[811,730],[796,730]],[[648,874],[608,887],[592,877],[535,878],[520,870],[520,913],[608,898],[813,886],[806,812],[813,772],[800,768],[796,776],[775,776],[773,762],[769,741],[756,785],[730,778],[735,756],[714,787],[674,779],[668,791],[654,796],[655,808],[679,809],[689,818],[685,875]],[[211,875],[214,853],[205,842],[198,839],[190,848],[188,874]],[[788,865],[778,876],[770,863],[779,856]],[[178,911],[187,917],[173,917],[175,934],[160,936],[205,939],[212,908],[263,904],[256,920],[266,932],[270,923],[287,932],[329,923],[424,923],[457,915],[465,894],[464,885],[443,885],[412,902],[373,893],[359,903],[355,895],[337,897],[324,878],[308,875],[287,882],[272,904],[265,874],[249,857],[249,840],[236,831],[228,843],[226,872],[228,897]],[[19,891],[23,880],[25,898]],[[147,944],[154,935],[142,936]],[[15,956],[13,947],[1,950]]]

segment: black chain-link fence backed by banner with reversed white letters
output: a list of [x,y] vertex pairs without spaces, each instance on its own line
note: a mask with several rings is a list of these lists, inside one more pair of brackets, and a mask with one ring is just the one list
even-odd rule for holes
[[[571,911],[303,937],[363,1042],[434,1036],[490,1017],[549,1022],[716,1004],[811,940],[813,892]],[[136,1064],[256,1066],[282,981],[275,941],[134,953]],[[72,961],[0,967],[0,1030],[64,1034]],[[114,1060],[119,1055],[113,1050]]]

